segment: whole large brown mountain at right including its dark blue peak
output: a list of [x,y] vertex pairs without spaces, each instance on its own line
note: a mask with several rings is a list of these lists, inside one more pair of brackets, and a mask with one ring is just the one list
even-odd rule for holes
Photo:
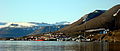
[[92,13],[86,14],[73,24],[62,28],[60,32],[72,33],[97,28],[110,30],[120,29],[120,4],[107,11],[96,10]]

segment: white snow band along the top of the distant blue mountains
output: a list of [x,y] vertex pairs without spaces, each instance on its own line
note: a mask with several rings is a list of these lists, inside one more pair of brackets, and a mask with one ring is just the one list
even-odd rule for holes
[[53,25],[69,25],[70,22],[63,21],[57,22],[55,24],[48,23],[37,23],[37,22],[0,22],[0,28],[13,27],[13,28],[26,28],[26,27],[43,27],[43,26],[53,26]]

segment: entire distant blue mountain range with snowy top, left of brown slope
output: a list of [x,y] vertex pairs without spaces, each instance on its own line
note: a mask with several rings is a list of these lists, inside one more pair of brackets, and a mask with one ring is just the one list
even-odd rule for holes
[[33,33],[54,32],[67,25],[36,22],[1,22],[0,24],[0,38],[22,37]]

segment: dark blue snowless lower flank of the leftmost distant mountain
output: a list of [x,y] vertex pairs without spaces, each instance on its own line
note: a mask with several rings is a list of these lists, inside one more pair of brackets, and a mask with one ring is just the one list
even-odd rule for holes
[[36,27],[13,28],[5,27],[0,29],[0,38],[7,37],[22,37],[32,33]]

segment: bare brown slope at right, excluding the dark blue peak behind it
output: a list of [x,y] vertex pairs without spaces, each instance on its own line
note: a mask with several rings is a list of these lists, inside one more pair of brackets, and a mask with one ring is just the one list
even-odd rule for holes
[[119,9],[120,5],[116,5],[111,9],[107,10],[105,13],[86,21],[85,23],[82,23],[84,19],[81,18],[80,20],[76,21],[75,23],[71,24],[68,27],[61,29],[60,31],[64,33],[71,33],[95,28],[107,28],[112,30],[115,29],[116,26],[119,29],[120,27],[119,13],[116,16],[113,16]]

